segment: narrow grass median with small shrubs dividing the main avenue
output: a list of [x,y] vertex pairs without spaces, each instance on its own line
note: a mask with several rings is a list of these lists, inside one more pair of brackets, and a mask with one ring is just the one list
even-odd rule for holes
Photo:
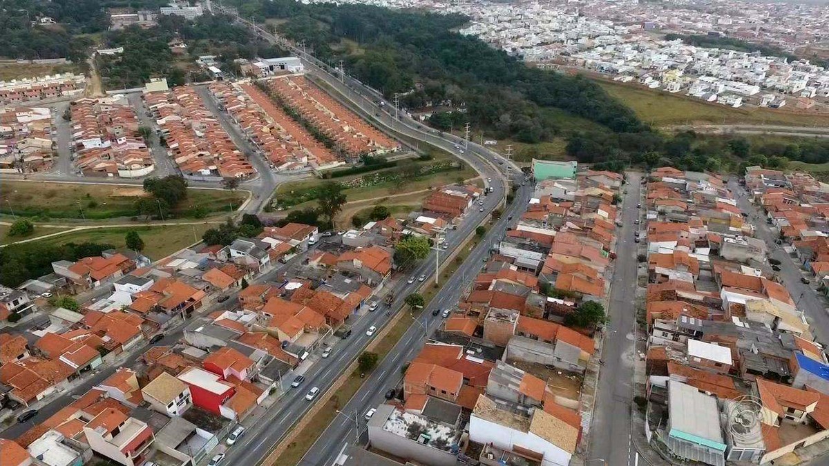
[[[475,249],[475,246],[477,246],[480,241],[481,237],[473,234],[465,243],[463,243],[461,246],[462,249],[456,258],[451,260],[448,265],[441,270],[441,283],[437,287],[434,286],[434,283],[424,284],[424,287],[421,289],[421,294],[423,294],[424,301],[427,305],[434,298],[434,296],[438,294],[439,289],[446,283],[448,278],[458,270],[458,267],[460,267],[461,264],[463,264],[463,261],[466,260],[469,253]],[[408,315],[408,311],[403,309],[398,312],[405,312]],[[419,312],[415,312],[411,315],[413,315],[414,318],[417,318],[419,316]],[[403,337],[406,330],[409,329],[413,322],[414,319],[412,318],[407,318],[406,316],[401,317],[394,324],[394,326],[389,329],[388,333],[386,333],[385,336],[376,343],[375,347],[372,348],[372,352],[377,354],[378,365],[391,351],[391,349],[395,347],[397,342],[400,341],[400,338]],[[311,420],[308,421],[308,424],[303,427],[303,430],[297,435],[296,439],[288,444],[288,447],[284,450],[284,452],[268,465],[282,466],[299,464],[299,461],[303,459],[303,456],[308,452],[308,449],[311,448],[311,445],[317,441],[322,432],[326,430],[327,426],[331,424],[337,416],[337,410],[346,405],[348,400],[351,400],[351,397],[360,390],[363,382],[367,380],[367,376],[365,378],[360,377],[359,369],[351,372],[342,386],[337,388],[337,393],[329,398],[322,405],[322,409],[318,410],[318,412],[312,416]]]

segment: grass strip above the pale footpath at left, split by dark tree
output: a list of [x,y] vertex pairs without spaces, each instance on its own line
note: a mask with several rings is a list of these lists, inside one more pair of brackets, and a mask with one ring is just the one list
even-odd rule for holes
[[[135,201],[147,195],[138,186],[2,182],[0,212],[14,211],[15,215],[27,217],[103,220],[137,215]],[[195,206],[204,207],[209,213],[230,211],[231,204],[236,208],[245,197],[245,192],[189,188],[187,201],[174,212],[177,216],[186,216]]]

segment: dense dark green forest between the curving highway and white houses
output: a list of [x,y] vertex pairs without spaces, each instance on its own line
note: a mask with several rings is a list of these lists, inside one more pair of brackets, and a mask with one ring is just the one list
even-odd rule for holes
[[351,73],[386,96],[400,94],[408,108],[460,109],[467,121],[498,138],[535,143],[560,133],[545,107],[613,131],[647,131],[631,109],[593,82],[531,68],[453,32],[468,21],[463,16],[293,0],[245,1],[240,10],[288,19],[279,31],[304,41],[322,60],[346,61]]

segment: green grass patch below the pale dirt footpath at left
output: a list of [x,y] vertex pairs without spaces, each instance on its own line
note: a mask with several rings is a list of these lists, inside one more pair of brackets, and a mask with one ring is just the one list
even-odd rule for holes
[[96,228],[95,230],[73,231],[65,235],[56,235],[36,242],[48,245],[62,245],[69,242],[82,243],[90,241],[95,243],[109,243],[119,248],[124,247],[124,236],[127,232],[134,230],[138,231],[138,235],[144,241],[143,254],[152,260],[159,260],[193,244],[197,240],[201,240],[201,235],[211,227],[212,225],[204,223],[192,225],[104,227]]

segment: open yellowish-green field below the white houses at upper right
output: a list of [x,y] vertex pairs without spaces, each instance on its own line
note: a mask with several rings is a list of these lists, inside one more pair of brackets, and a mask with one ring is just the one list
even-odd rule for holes
[[596,80],[608,94],[628,105],[640,119],[654,126],[672,124],[783,124],[827,126],[829,115],[805,114],[758,107],[733,109],[703,102],[680,93],[644,89],[639,85]]

